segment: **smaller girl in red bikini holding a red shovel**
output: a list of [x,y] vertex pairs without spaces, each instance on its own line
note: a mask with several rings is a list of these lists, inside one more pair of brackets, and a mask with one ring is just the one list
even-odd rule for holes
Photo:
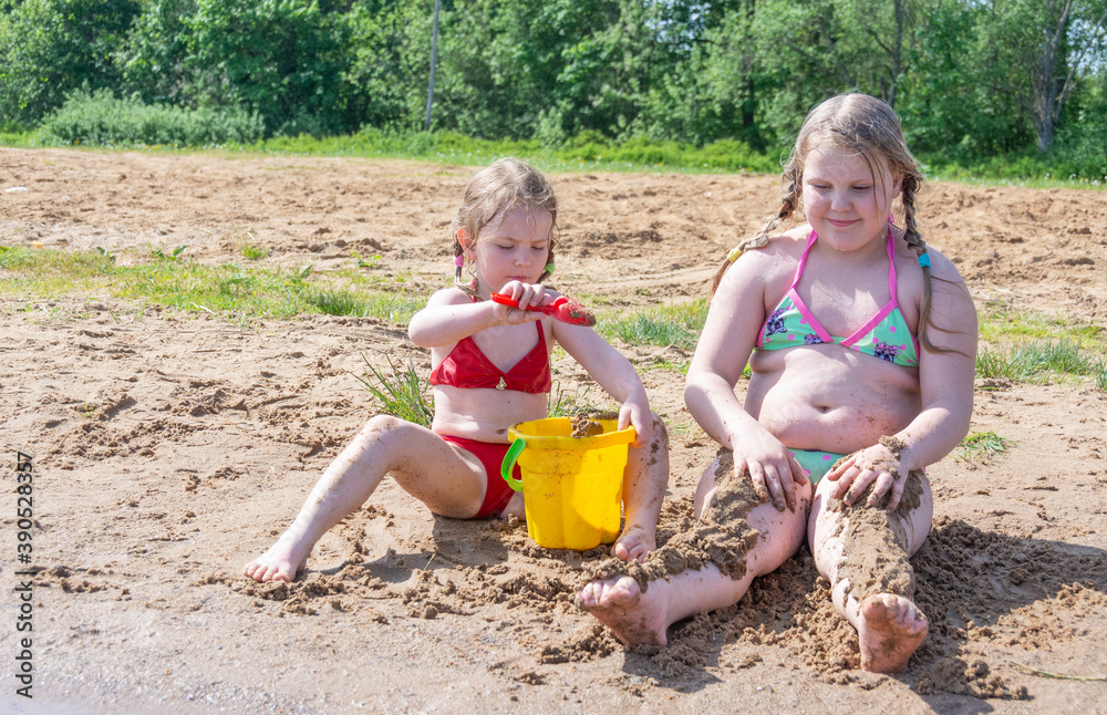
[[[558,296],[541,284],[554,268],[557,213],[546,177],[524,162],[501,159],[473,177],[454,220],[455,286],[432,296],[408,327],[412,342],[431,350],[431,428],[390,415],[370,419],[292,525],[246,564],[247,577],[293,579],[315,541],[359,509],[387,474],[444,517],[525,518],[523,495],[510,490],[499,467],[508,427],[547,415],[555,342],[620,402],[619,427],[637,431],[624,479],[625,525],[612,553],[638,560],[655,548],[669,443],[638,373],[591,328],[525,310]],[[473,274],[467,283],[466,265]],[[493,292],[519,308],[489,300]]]

